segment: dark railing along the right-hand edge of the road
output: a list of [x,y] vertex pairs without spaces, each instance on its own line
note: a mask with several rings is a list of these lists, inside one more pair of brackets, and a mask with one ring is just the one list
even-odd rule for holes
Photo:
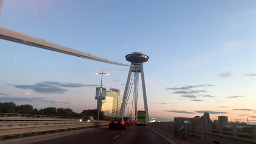
[[[174,131],[174,123],[172,122],[155,122],[150,123],[154,127],[158,127],[163,130]],[[216,126],[213,129],[213,126]],[[229,130],[226,130],[225,125],[229,125]],[[234,124],[185,124],[185,131],[183,133],[199,136],[202,139],[212,139],[216,141],[232,140],[242,141],[245,143],[256,143],[256,125],[234,125]],[[241,133],[241,126],[251,128],[248,133]],[[240,128],[239,128],[240,127]]]

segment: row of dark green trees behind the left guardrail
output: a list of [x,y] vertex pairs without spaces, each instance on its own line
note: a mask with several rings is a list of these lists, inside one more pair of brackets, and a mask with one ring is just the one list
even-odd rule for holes
[[[98,110],[83,110],[81,113],[74,112],[69,108],[56,108],[46,107],[44,109],[36,109],[32,105],[16,105],[13,102],[0,103],[0,113],[19,113],[27,115],[47,115],[47,116],[60,116],[60,117],[83,117],[93,116],[95,119],[98,117]],[[100,119],[108,119],[104,112],[100,112]]]

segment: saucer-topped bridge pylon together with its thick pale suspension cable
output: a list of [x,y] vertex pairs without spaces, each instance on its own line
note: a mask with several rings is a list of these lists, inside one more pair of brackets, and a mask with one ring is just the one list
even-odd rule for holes
[[[30,45],[30,46],[34,46],[34,47],[39,47],[42,49],[51,50],[51,51],[55,51],[55,52],[61,52],[61,53],[65,53],[67,55],[91,59],[94,61],[115,64],[115,65],[121,65],[121,66],[129,66],[130,70],[129,70],[129,74],[128,74],[128,78],[127,78],[127,82],[126,82],[126,86],[125,86],[123,102],[124,101],[126,102],[129,100],[131,89],[132,89],[132,87],[134,87],[132,104],[133,104],[133,101],[135,101],[135,103],[134,103],[135,115],[137,115],[136,112],[137,112],[138,82],[139,82],[138,73],[141,73],[144,108],[147,112],[147,121],[149,122],[146,85],[145,85],[144,71],[143,71],[143,63],[147,62],[148,58],[149,58],[147,55],[143,55],[142,53],[138,53],[138,52],[131,53],[131,54],[127,55],[126,60],[131,62],[131,64],[129,65],[129,64],[111,61],[107,58],[97,57],[97,56],[91,55],[90,53],[77,51],[77,50],[71,49],[66,46],[54,44],[54,43],[51,43],[44,39],[35,38],[30,35],[12,31],[10,29],[3,28],[3,27],[0,27],[0,39],[13,41],[13,42],[20,43],[20,44],[26,44],[26,45]],[[133,81],[131,81],[131,75],[132,75],[132,78],[134,78]],[[102,103],[102,101],[101,101],[101,103]],[[124,116],[124,113],[126,110],[126,105],[127,105],[127,103],[121,104],[120,117]],[[100,107],[99,107],[99,109],[101,110]]]

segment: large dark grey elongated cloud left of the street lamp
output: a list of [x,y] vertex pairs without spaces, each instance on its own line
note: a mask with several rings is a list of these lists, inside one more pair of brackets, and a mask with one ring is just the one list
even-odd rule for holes
[[34,85],[13,85],[16,88],[21,89],[31,89],[37,93],[51,93],[51,94],[62,94],[68,91],[68,89],[64,89],[61,87],[67,88],[79,88],[79,87],[93,87],[93,86],[100,86],[100,85],[83,85],[80,83],[61,83],[55,81],[44,81],[35,83]]

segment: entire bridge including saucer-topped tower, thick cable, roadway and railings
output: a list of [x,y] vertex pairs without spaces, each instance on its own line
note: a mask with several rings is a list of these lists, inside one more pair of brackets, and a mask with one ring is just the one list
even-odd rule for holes
[[[0,39],[94,61],[130,67],[120,116],[124,116],[126,101],[129,100],[132,86],[132,105],[134,103],[135,110],[137,110],[138,81],[139,74],[141,74],[144,109],[147,112],[147,121],[149,120],[143,71],[143,63],[148,61],[147,55],[131,53],[126,56],[126,60],[131,64],[124,64],[3,27],[0,27]],[[252,128],[250,133],[241,133],[238,131],[225,131],[221,125],[218,129],[213,129],[210,127],[211,124],[204,123],[203,125],[197,124],[195,126],[192,123],[187,124],[174,120],[174,123],[156,122],[149,123],[148,127],[130,127],[124,131],[110,131],[106,128],[107,121],[86,123],[79,122],[78,118],[69,117],[19,115],[13,113],[0,114],[2,114],[0,115],[0,143],[74,143],[74,140],[77,143],[84,143],[85,140],[87,143],[102,143],[103,141],[106,143],[256,143],[256,128],[251,125],[249,125]],[[177,124],[182,124],[185,127],[185,130],[181,132],[187,135],[185,140],[184,137],[177,137]],[[236,130],[236,127],[234,127],[234,130]]]

